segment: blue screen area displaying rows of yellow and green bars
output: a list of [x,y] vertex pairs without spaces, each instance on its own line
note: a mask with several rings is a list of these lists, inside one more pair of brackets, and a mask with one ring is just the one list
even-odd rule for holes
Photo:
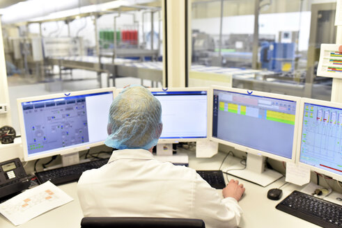
[[212,136],[291,158],[296,101],[214,90]]

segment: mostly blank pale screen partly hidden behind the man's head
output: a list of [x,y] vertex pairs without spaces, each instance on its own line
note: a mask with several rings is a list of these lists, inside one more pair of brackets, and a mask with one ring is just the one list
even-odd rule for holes
[[152,92],[162,104],[161,139],[207,137],[207,91]]

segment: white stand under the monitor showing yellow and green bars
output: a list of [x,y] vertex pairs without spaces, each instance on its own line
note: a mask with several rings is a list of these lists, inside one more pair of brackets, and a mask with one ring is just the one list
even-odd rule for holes
[[283,177],[283,174],[265,168],[265,156],[256,154],[247,154],[246,168],[235,165],[229,167],[227,173],[263,187]]

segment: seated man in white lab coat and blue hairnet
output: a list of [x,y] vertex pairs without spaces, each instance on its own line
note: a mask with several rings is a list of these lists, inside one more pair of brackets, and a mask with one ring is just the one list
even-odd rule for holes
[[237,227],[242,184],[231,180],[222,199],[195,170],[153,158],[161,115],[160,101],[141,86],[114,99],[105,144],[118,150],[106,165],[81,175],[77,193],[84,216],[199,218],[209,228]]

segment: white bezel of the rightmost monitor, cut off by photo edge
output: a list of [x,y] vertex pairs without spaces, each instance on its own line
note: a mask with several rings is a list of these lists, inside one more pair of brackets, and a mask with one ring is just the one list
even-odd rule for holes
[[298,137],[297,137],[297,155],[296,155],[296,163],[300,164],[300,165],[304,165],[305,167],[310,168],[311,171],[316,171],[319,172],[321,174],[325,174],[328,177],[332,177],[333,179],[336,179],[338,181],[342,181],[342,175],[336,174],[334,172],[329,172],[327,170],[323,170],[320,168],[316,168],[313,165],[308,165],[306,163],[303,163],[300,161],[300,148],[302,145],[302,126],[303,126],[303,119],[304,119],[304,104],[305,103],[309,103],[309,104],[316,104],[316,105],[320,105],[320,106],[328,106],[331,108],[341,108],[342,109],[342,104],[341,103],[336,103],[336,102],[332,102],[332,101],[322,101],[322,100],[318,100],[318,99],[309,99],[309,98],[302,98],[301,100],[301,104],[300,104],[300,128],[298,131]]

